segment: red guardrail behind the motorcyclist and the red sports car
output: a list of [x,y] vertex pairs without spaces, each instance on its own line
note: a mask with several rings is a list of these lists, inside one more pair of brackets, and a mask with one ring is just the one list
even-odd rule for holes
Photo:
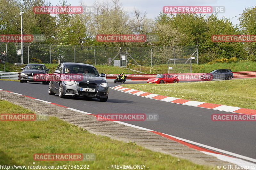
[[[170,73],[172,74],[172,73]],[[173,73],[178,76],[180,81],[201,80],[201,75],[205,73]],[[106,79],[116,79],[119,74],[106,74]],[[125,74],[127,79],[131,80],[148,80],[148,78],[156,77],[156,74]],[[233,72],[234,78],[256,78],[256,71],[236,71]]]

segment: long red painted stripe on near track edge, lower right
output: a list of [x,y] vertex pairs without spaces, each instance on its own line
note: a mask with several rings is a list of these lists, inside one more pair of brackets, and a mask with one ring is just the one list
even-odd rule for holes
[[[149,130],[149,132],[153,132],[153,133],[155,133],[155,134],[157,134],[157,135],[160,135],[160,136],[162,136],[162,137],[166,137],[166,138],[168,138],[168,139],[170,139],[170,140],[173,140],[173,141],[176,141],[176,142],[178,142],[178,143],[180,143],[180,144],[184,144],[184,145],[188,146],[189,148],[193,148],[193,149],[196,149],[196,150],[199,150],[199,151],[204,151],[204,152],[210,152],[210,153],[215,153],[215,154],[224,155],[224,154],[219,153],[219,152],[214,152],[214,151],[211,151],[211,150],[208,150],[208,149],[205,149],[205,148],[201,148],[201,147],[199,147],[199,146],[195,146],[195,145],[193,145],[193,144],[189,144],[189,143],[187,143],[187,142],[184,142],[184,141],[182,141],[182,140],[176,139],[176,138],[174,138],[174,137],[170,137],[169,135],[165,135],[165,134],[160,133],[160,132],[150,131],[150,130]],[[228,155],[225,155],[225,156],[228,156]],[[229,157],[231,157],[231,156],[229,156]],[[233,158],[233,157],[232,157],[232,158]]]

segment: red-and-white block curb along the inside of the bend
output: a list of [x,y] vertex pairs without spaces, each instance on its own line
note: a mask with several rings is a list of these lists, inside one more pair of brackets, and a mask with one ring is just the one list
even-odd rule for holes
[[135,94],[138,96],[156,99],[156,100],[162,100],[162,101],[183,104],[183,105],[188,105],[188,106],[203,107],[203,108],[220,110],[220,111],[225,111],[225,112],[233,112],[233,113],[240,113],[240,114],[256,116],[256,110],[254,110],[254,109],[246,109],[246,108],[241,108],[241,107],[233,107],[233,106],[205,103],[205,102],[201,102],[201,101],[179,99],[179,98],[175,98],[175,97],[168,97],[168,96],[153,94],[153,93],[149,93],[149,92],[138,91],[138,90],[130,89],[130,88],[123,87],[120,85],[117,85],[112,88],[122,91],[122,92],[127,92],[127,93]]

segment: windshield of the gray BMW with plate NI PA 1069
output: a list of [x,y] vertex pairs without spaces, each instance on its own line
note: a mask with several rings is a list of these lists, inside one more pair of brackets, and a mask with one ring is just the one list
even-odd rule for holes
[[64,67],[65,74],[84,74],[86,76],[99,77],[98,71],[94,67],[82,66],[82,65],[66,65]]

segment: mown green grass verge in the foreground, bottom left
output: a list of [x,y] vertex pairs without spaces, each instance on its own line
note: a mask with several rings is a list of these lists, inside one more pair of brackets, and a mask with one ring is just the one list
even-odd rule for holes
[[[0,100],[0,113],[33,113]],[[146,169],[214,169],[134,143],[124,143],[91,134],[77,126],[50,117],[47,121],[0,121],[0,165],[89,165],[90,169],[109,169],[110,165],[146,165]],[[34,161],[34,153],[94,153],[94,161]]]

